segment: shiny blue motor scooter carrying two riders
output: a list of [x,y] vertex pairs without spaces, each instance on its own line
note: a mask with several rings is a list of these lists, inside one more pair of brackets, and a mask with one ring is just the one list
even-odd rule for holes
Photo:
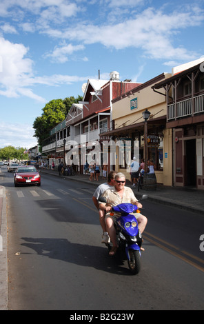
[[[141,200],[147,199],[143,195]],[[99,197],[100,202],[106,202],[103,197]],[[121,203],[112,206],[112,212],[120,212],[121,216],[116,219],[116,241],[121,252],[122,259],[128,259],[128,267],[132,274],[138,274],[141,270],[141,245],[143,238],[138,228],[136,217],[132,214],[140,212],[139,208],[132,203]],[[110,243],[106,244],[110,250]]]

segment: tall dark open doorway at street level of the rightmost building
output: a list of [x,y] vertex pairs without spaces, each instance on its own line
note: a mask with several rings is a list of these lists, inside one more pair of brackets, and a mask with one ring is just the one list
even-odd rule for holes
[[196,140],[185,141],[186,149],[186,172],[185,185],[196,185]]

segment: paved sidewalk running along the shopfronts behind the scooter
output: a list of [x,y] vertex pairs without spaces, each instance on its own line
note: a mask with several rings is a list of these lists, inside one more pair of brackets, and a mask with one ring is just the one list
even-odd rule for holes
[[[52,176],[59,176],[57,170],[43,169],[42,173],[48,173]],[[80,181],[88,183],[96,188],[105,181],[102,176],[99,177],[99,181],[89,181],[89,175],[76,174],[75,176],[60,176],[67,181]],[[138,192],[137,187],[132,187],[130,181],[126,181],[128,187],[132,188],[135,196],[139,199],[143,194],[148,195],[149,201],[156,201],[167,205],[174,205],[179,208],[183,208],[192,212],[198,212],[204,215],[204,191],[197,190],[196,188],[183,188],[183,187],[170,187],[158,184],[156,190],[140,190]],[[94,193],[93,188],[93,193]]]

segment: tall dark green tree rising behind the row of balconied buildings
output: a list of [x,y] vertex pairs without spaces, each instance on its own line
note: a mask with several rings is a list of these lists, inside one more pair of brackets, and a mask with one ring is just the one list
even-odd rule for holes
[[56,125],[61,123],[66,117],[72,106],[72,103],[78,103],[83,97],[78,96],[78,98],[68,97],[64,100],[54,99],[46,103],[45,107],[42,109],[43,113],[41,117],[37,117],[34,120],[34,137],[37,137],[38,143],[41,146],[44,139],[50,136],[50,130]]

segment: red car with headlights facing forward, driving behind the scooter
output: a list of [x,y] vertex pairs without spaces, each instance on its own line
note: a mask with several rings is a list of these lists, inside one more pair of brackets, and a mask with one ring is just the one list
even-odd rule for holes
[[14,173],[14,186],[17,185],[41,185],[41,176],[32,165],[22,165]]

